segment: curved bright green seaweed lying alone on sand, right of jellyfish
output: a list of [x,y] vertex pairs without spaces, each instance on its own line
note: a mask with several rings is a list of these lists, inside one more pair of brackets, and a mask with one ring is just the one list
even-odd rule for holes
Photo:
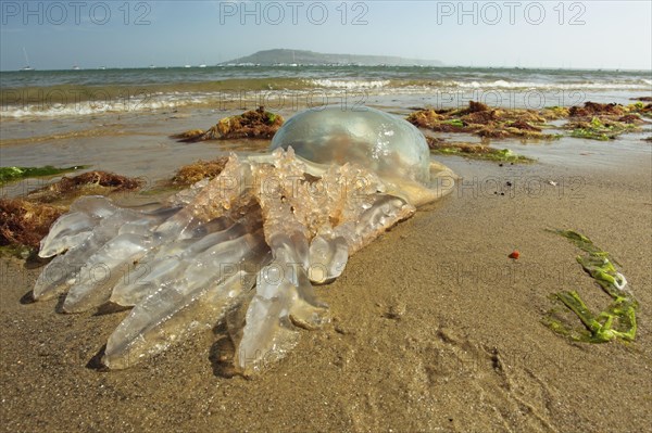
[[638,302],[631,292],[625,290],[627,280],[614,266],[614,264],[617,265],[617,262],[610,260],[607,252],[595,246],[589,238],[581,233],[573,230],[554,230],[553,232],[563,235],[587,253],[584,256],[577,256],[577,263],[613,301],[604,311],[594,315],[576,291],[559,292],[554,294],[555,298],[579,318],[588,332],[572,329],[555,319],[554,310],[549,313],[544,322],[554,332],[575,341],[586,343],[606,343],[614,339],[634,341],[637,330]]

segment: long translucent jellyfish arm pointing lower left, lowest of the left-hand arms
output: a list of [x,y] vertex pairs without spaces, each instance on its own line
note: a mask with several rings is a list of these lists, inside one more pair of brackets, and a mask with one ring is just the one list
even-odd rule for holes
[[137,304],[111,334],[103,364],[126,368],[215,326],[239,295],[253,286],[255,269],[268,257],[261,231],[187,257],[190,264],[185,271]]

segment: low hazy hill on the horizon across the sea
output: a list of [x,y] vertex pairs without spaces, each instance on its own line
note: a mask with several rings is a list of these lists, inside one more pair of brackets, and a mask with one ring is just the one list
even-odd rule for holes
[[302,50],[265,50],[259,51],[254,54],[247,55],[244,58],[234,59],[228,62],[221,63],[226,64],[242,64],[253,63],[264,66],[276,65],[276,64],[301,64],[301,65],[331,65],[331,64],[356,64],[356,65],[390,65],[390,66],[442,66],[438,60],[415,60],[415,59],[403,59],[391,55],[356,55],[356,54],[324,54],[313,51]]

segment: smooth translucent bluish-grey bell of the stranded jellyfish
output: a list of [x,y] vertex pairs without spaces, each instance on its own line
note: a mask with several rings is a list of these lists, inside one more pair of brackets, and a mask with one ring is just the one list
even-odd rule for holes
[[427,183],[430,152],[423,133],[406,120],[379,110],[340,105],[309,109],[276,132],[271,150],[292,147],[318,164],[356,163],[380,177]]

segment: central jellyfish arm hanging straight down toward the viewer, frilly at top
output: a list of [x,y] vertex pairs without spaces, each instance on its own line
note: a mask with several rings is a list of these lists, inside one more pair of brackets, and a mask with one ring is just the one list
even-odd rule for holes
[[276,178],[281,191],[256,195],[274,260],[259,272],[255,295],[246,314],[236,353],[236,366],[243,374],[260,371],[267,362],[283,358],[298,342],[297,326],[317,328],[328,321],[327,306],[317,301],[308,278],[309,232],[288,199],[291,194],[286,180],[296,180],[296,169],[261,165],[255,171],[260,179]]

